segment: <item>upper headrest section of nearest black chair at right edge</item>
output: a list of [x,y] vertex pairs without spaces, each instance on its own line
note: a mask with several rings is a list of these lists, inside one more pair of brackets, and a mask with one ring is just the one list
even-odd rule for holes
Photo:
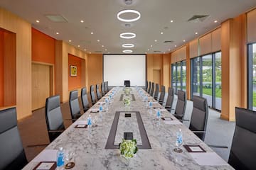
[[235,107],[235,125],[256,133],[256,111]]

